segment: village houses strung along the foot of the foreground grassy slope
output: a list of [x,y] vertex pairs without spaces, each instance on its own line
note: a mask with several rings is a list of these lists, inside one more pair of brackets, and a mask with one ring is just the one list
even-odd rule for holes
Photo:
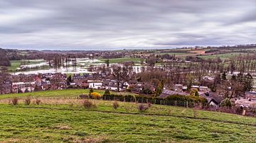
[[[201,82],[204,83],[204,85],[214,84],[215,77],[203,76]],[[225,99],[223,94],[221,94],[221,91],[218,93],[213,92],[208,86],[190,86],[189,89],[188,85],[183,84],[174,84],[171,88],[164,86],[159,98],[166,98],[174,95],[195,96],[196,94],[196,96],[206,98],[213,110],[220,108],[220,103]],[[136,80],[121,80],[118,83],[117,79],[114,79],[112,75],[104,73],[73,74],[73,76],[61,73],[9,75],[4,81],[3,87],[4,90],[1,90],[1,94],[92,88],[121,92],[129,91],[143,96],[155,96],[154,93],[157,88],[157,86],[153,84]],[[229,91],[232,91],[231,86],[228,87],[228,89]],[[252,88],[252,90],[255,90],[255,87]],[[234,96],[231,98],[231,101],[235,106],[255,108],[256,91],[246,91],[243,96]]]

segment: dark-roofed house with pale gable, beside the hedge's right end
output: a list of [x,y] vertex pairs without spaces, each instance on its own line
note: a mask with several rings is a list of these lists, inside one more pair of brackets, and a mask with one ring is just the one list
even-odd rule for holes
[[221,96],[218,96],[218,94],[214,92],[201,93],[199,96],[201,98],[206,98],[208,104],[214,110],[218,109],[220,107],[221,101],[223,101],[223,98]]

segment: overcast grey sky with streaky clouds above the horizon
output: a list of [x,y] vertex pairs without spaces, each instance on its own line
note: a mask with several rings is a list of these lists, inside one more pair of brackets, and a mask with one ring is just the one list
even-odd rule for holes
[[256,43],[256,0],[0,0],[0,47],[155,49]]

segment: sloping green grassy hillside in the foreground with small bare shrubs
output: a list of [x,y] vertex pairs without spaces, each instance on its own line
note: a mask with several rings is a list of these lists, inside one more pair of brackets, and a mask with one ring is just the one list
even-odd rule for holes
[[[84,90],[83,90],[84,91]],[[0,142],[255,142],[256,119],[190,108],[90,100],[85,109],[80,90],[35,92],[42,103],[0,103]],[[86,91],[87,92],[87,91]],[[100,91],[99,91],[100,92]],[[1,96],[0,101],[14,96]]]

